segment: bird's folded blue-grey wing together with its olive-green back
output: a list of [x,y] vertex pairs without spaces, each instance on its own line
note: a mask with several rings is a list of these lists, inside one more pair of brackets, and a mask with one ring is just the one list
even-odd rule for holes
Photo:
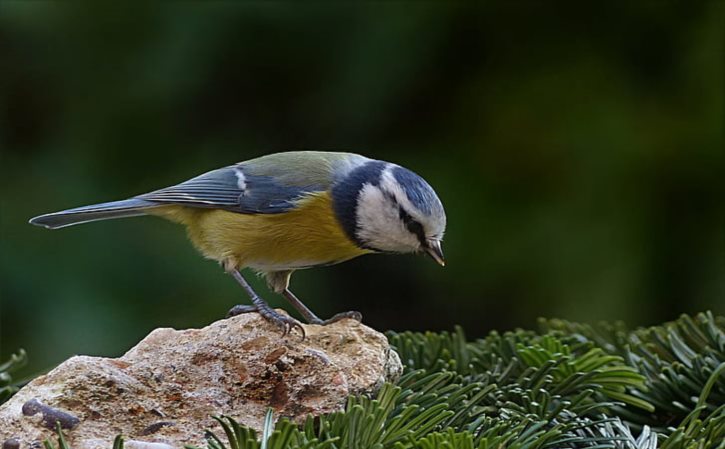
[[334,165],[345,153],[278,153],[212,170],[180,184],[136,198],[243,214],[275,214],[293,209],[301,198],[328,190]]

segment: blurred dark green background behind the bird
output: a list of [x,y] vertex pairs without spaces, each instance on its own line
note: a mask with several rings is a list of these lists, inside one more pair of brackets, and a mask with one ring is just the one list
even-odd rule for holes
[[298,273],[321,316],[481,336],[722,314],[722,5],[4,1],[0,359],[116,356],[244,302],[177,225],[27,219],[287,149],[398,162],[448,213],[445,269]]

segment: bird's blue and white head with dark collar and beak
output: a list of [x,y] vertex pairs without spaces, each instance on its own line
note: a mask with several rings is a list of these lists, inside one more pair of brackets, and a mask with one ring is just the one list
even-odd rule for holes
[[333,201],[346,233],[359,246],[384,253],[426,253],[445,265],[443,205],[412,171],[368,161],[335,185]]

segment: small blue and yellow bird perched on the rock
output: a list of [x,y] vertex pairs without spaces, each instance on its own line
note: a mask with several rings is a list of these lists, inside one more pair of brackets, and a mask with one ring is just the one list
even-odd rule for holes
[[31,218],[58,229],[99,220],[158,216],[186,226],[191,243],[217,261],[246,292],[251,305],[227,316],[258,312],[283,331],[305,331],[271,308],[242,274],[262,275],[309,324],[327,325],[289,288],[296,270],[334,265],[374,253],[422,253],[445,266],[441,242],[446,214],[438,195],[400,165],[359,154],[286,151],[239,162],[179,184],[120,201]]

